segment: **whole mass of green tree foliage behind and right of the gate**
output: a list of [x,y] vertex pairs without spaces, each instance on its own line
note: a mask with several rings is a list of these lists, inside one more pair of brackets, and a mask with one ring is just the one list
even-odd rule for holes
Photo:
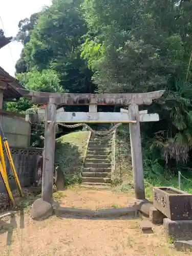
[[16,40],[24,48],[16,76],[37,91],[165,89],[148,107],[161,120],[142,125],[142,138],[161,164],[187,162],[192,145],[191,20],[188,0],[53,0],[18,24]]

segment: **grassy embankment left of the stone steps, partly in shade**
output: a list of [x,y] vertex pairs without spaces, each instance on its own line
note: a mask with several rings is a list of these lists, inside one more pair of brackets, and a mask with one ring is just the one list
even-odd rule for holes
[[90,132],[74,132],[56,139],[55,165],[65,174],[65,185],[81,183]]

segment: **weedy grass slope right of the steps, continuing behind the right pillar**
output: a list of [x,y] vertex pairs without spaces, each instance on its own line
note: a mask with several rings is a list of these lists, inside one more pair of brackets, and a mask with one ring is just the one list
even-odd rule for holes
[[[115,179],[115,185],[122,192],[129,191],[129,193],[133,192],[134,194],[129,132],[125,128],[122,125],[117,131],[115,165],[117,177]],[[165,168],[159,164],[159,159],[152,160],[148,157],[148,154],[145,148],[143,148],[145,196],[147,199],[153,200],[153,186],[172,186],[179,188],[177,173],[180,169],[177,167],[175,169]],[[192,194],[192,177],[190,172],[183,170],[181,173],[188,179],[181,177],[181,190]],[[121,181],[120,185],[117,184],[117,180]]]

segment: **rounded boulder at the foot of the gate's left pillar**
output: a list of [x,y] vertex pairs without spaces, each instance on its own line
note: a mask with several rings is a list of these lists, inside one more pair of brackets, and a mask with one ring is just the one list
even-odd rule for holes
[[45,220],[53,214],[52,204],[39,198],[35,200],[31,208],[31,216],[35,220]]

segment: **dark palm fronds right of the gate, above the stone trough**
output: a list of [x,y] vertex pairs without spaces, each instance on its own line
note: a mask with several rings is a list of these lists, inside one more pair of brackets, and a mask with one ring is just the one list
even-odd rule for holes
[[192,145],[192,84],[175,80],[158,103],[161,123],[165,122],[168,127],[156,133],[152,148],[160,149],[166,163],[169,159],[186,162]]

